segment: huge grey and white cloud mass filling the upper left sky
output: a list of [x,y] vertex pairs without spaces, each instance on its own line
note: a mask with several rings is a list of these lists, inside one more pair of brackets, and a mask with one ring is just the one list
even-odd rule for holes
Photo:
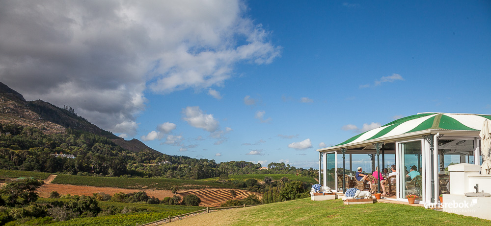
[[281,50],[242,0],[2,2],[0,30],[3,83],[129,136],[145,92],[223,86]]

